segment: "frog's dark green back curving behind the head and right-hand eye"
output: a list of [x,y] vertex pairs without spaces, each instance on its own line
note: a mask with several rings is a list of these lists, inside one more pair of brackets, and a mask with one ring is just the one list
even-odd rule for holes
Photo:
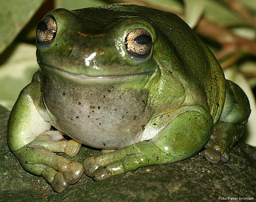
[[[131,16],[151,22],[158,37],[153,57],[158,58],[183,84],[188,98],[184,104],[202,104],[210,111],[214,124],[218,121],[226,92],[223,70],[209,48],[183,20],[173,13],[132,4],[111,4],[72,12],[78,18],[88,18],[88,9],[88,23],[94,28],[93,33],[103,32]],[[100,22],[98,19],[101,19]],[[163,41],[168,41],[168,44],[163,44]],[[157,49],[157,43],[162,43],[159,47],[165,46],[169,53],[162,54],[163,51]]]

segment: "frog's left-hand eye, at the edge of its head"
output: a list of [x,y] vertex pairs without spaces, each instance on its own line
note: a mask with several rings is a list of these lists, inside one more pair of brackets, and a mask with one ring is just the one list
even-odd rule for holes
[[46,16],[37,25],[37,40],[41,43],[51,42],[57,31],[56,20],[52,16]]

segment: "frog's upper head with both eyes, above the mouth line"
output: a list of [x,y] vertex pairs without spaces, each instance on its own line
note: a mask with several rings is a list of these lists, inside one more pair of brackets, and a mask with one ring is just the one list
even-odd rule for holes
[[[110,8],[110,7],[109,7]],[[37,26],[41,68],[87,76],[152,74],[156,31],[140,16],[119,15],[107,6],[55,9]]]

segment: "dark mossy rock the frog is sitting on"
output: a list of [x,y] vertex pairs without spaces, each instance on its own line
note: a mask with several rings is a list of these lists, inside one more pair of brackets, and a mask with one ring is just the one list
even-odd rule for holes
[[[256,197],[256,148],[239,143],[228,163],[212,164],[201,155],[170,165],[140,168],[100,182],[85,174],[67,191],[55,193],[39,176],[26,172],[6,142],[9,112],[0,106],[0,201],[11,202],[143,202],[218,201],[219,197]],[[100,151],[83,147],[83,162]],[[65,155],[63,155],[65,156]],[[252,200],[253,201],[253,200]]]

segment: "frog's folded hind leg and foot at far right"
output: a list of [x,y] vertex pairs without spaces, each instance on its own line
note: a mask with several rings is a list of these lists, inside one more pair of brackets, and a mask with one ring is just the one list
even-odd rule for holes
[[203,151],[212,163],[228,162],[229,151],[241,137],[243,126],[250,115],[250,105],[246,94],[234,82],[227,80],[226,99],[222,115]]

